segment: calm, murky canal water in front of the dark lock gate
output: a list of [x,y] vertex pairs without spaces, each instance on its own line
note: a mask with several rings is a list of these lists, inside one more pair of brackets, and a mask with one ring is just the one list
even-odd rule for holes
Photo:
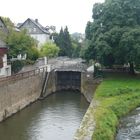
[[0,123],[0,140],[73,140],[88,108],[77,92],[57,92]]

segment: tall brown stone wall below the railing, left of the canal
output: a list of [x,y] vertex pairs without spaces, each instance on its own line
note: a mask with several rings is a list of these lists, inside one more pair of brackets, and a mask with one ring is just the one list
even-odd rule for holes
[[0,83],[0,121],[36,101],[42,89],[43,73]]

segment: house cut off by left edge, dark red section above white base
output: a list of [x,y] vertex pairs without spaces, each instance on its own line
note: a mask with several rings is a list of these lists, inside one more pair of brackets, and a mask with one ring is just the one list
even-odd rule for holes
[[0,17],[0,77],[11,75],[11,65],[7,65],[7,45],[4,42],[8,29]]

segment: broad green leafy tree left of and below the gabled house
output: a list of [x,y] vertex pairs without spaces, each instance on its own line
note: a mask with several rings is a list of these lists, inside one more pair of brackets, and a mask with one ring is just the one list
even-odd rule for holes
[[17,57],[17,55],[25,53],[27,59],[35,60],[38,58],[37,50],[35,49],[35,40],[27,35],[26,31],[16,32],[11,30],[7,37],[7,45],[9,46],[8,57]]

